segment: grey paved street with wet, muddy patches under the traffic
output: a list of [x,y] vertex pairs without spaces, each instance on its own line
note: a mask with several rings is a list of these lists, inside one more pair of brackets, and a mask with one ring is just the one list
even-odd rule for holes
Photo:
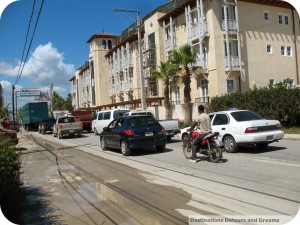
[[[68,224],[113,224],[110,218],[116,215],[128,224],[187,224],[197,215],[262,215],[282,224],[299,209],[298,141],[282,140],[268,151],[243,147],[225,153],[221,163],[203,158],[193,164],[184,158],[178,139],[164,153],[143,150],[123,157],[119,151],[100,150],[99,136],[93,134],[62,140],[51,134],[32,137],[47,150],[37,147],[36,161],[33,154],[25,155],[25,185],[47,184],[52,204],[63,215],[59,218]],[[39,158],[46,162],[37,164]],[[110,210],[99,213],[103,207]]]

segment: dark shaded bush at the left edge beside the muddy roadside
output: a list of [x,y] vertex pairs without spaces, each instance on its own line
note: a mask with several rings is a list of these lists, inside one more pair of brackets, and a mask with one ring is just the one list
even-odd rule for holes
[[2,213],[13,222],[20,200],[20,153],[10,139],[0,133],[0,205]]

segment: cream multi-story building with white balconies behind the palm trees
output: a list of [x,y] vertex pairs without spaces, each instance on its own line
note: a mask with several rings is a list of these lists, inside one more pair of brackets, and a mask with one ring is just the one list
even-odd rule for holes
[[[101,34],[88,41],[91,88],[97,93],[90,106],[139,107],[141,56],[147,105],[161,104],[163,82],[151,71],[186,43],[198,51],[195,66],[203,69],[192,78],[192,103],[287,78],[299,85],[299,15],[287,2],[173,0],[145,16],[140,29],[142,54],[136,24],[110,36],[111,48],[104,52],[95,48]],[[170,84],[173,104],[182,104],[183,84]]]

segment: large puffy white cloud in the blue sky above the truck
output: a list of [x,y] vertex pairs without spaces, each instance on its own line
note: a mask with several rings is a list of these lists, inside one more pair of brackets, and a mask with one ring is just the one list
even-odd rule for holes
[[[22,82],[22,77],[31,80],[33,85],[29,88],[53,84],[54,90],[65,97],[70,92],[69,79],[74,76],[75,68],[63,60],[63,53],[58,52],[52,43],[39,45],[25,64],[18,84]],[[0,62],[0,75],[17,78],[19,66],[20,62],[18,65]]]

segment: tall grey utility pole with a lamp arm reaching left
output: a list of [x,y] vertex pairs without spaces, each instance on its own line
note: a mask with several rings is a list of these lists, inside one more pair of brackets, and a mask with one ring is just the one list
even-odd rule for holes
[[132,9],[114,9],[114,11],[120,12],[134,12],[137,17],[137,30],[138,30],[138,51],[139,51],[139,63],[140,63],[140,86],[141,86],[141,105],[142,109],[145,110],[147,108],[146,105],[146,97],[145,97],[145,80],[143,74],[143,58],[142,58],[142,46],[141,46],[141,19],[140,19],[140,11],[132,10]]

